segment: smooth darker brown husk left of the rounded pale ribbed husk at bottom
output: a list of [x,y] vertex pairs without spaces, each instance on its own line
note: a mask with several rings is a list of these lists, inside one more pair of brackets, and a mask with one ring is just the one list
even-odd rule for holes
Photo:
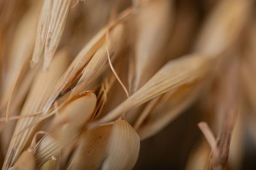
[[87,129],[71,159],[70,169],[99,169],[106,157],[113,125],[95,125]]

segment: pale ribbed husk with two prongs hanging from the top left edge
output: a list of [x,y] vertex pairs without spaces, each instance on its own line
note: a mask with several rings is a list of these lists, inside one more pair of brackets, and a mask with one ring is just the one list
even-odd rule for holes
[[37,26],[32,62],[37,63],[44,50],[44,70],[48,69],[60,43],[72,0],[45,0]]

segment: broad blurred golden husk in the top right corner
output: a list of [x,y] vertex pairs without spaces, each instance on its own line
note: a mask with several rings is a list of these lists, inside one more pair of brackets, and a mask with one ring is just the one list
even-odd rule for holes
[[220,1],[200,32],[195,51],[216,57],[230,48],[241,34],[251,6],[250,0]]

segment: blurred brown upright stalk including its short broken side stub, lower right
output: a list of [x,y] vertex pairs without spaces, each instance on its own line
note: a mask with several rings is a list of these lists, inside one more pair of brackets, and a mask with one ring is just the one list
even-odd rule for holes
[[[221,76],[223,80],[219,91],[220,99],[216,106],[218,108],[216,109],[216,117],[219,118],[216,123],[220,126],[218,143],[216,143],[211,130],[206,124],[198,125],[212,149],[212,169],[227,169],[230,140],[236,123],[238,104],[241,103],[237,83],[238,63],[236,56],[232,56],[232,60],[229,63],[230,66],[225,70],[225,74]],[[211,168],[209,167],[209,169]]]

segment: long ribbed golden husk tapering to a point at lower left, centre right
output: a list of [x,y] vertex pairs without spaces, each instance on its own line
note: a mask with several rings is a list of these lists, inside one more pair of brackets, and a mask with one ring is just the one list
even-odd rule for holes
[[140,90],[132,94],[99,122],[109,122],[168,90],[200,80],[210,71],[209,62],[210,59],[199,55],[187,55],[177,60],[171,60]]

